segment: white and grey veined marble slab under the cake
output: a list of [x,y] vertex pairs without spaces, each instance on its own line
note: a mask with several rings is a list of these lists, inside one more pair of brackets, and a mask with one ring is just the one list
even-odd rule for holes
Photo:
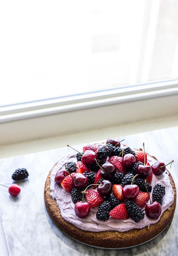
[[[144,142],[146,151],[165,163],[174,159],[171,175],[178,188],[177,127],[120,137],[120,139],[125,139],[125,144],[136,148],[142,147]],[[48,216],[43,191],[49,171],[69,151],[71,149],[66,147],[0,161],[0,181],[6,186],[11,185],[11,175],[16,168],[27,168],[30,174],[27,181],[19,182],[21,193],[16,198],[9,195],[8,189],[0,188],[0,213],[9,255],[178,255],[177,207],[172,223],[158,237],[134,248],[122,250],[93,248],[63,234]],[[3,255],[1,250],[0,255]]]

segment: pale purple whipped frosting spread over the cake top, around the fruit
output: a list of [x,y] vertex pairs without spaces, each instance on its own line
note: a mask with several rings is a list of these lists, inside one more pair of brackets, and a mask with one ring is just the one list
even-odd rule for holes
[[[150,156],[147,156],[148,162],[150,165],[156,162],[156,160]],[[57,205],[60,209],[61,216],[68,222],[72,223],[74,226],[86,230],[86,231],[128,231],[133,228],[143,228],[149,226],[150,224],[154,224],[159,221],[159,216],[157,219],[148,218],[145,214],[144,219],[141,219],[140,222],[136,223],[133,219],[114,219],[110,217],[107,221],[101,221],[96,218],[96,212],[98,207],[91,208],[90,214],[88,217],[81,219],[76,216],[74,211],[75,204],[72,202],[71,194],[66,192],[60,185],[56,184],[54,181],[55,175],[58,170],[64,169],[64,165],[68,162],[77,162],[76,154],[70,153],[62,160],[60,160],[57,165],[53,168],[51,173],[51,185],[50,185],[50,196],[56,200]],[[166,211],[174,202],[174,191],[171,186],[168,172],[165,171],[161,175],[156,176],[153,174],[153,179],[151,182],[152,191],[153,187],[160,183],[161,185],[165,186],[165,196],[163,197],[162,203],[162,213]],[[92,187],[91,187],[92,189]],[[150,197],[152,199],[152,192],[150,193]],[[85,201],[85,200],[84,200]],[[148,202],[149,203],[149,202]],[[142,208],[144,211],[144,207]]]

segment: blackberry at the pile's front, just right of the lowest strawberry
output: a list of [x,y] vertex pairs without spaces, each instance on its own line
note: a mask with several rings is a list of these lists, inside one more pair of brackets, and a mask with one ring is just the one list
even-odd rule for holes
[[127,212],[129,213],[130,217],[135,222],[139,222],[141,219],[144,218],[144,212],[134,201],[128,200],[125,203],[125,206],[127,208]]

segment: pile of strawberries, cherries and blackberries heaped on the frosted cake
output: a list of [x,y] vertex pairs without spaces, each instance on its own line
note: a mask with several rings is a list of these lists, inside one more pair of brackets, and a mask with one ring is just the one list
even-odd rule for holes
[[[150,166],[145,151],[135,152],[130,147],[122,149],[115,138],[109,138],[101,146],[83,147],[83,153],[78,152],[76,158],[77,163],[69,162],[65,169],[56,173],[55,182],[71,193],[78,217],[87,217],[91,208],[97,206],[96,218],[102,221],[109,217],[131,217],[139,222],[144,218],[143,206],[148,217],[160,216],[165,187],[159,183],[154,186],[153,203],[149,192],[152,191],[153,174],[160,175],[166,170],[163,162]],[[84,196],[87,202],[84,202]],[[150,204],[147,204],[149,199]]]

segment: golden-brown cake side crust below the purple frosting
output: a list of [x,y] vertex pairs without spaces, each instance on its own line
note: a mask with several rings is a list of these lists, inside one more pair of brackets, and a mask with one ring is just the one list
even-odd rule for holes
[[[57,165],[57,163],[54,165],[54,167]],[[168,226],[169,222],[173,218],[175,206],[176,206],[176,187],[171,174],[168,172],[170,182],[174,191],[174,202],[170,206],[170,208],[167,209],[162,214],[160,220],[157,223],[151,224],[149,227],[147,226],[142,229],[131,229],[126,232],[84,231],[80,228],[75,227],[73,224],[65,221],[62,218],[56,201],[53,200],[52,197],[50,196],[50,193],[51,193],[50,176],[51,176],[52,170],[48,174],[45,187],[44,187],[44,202],[45,202],[48,214],[51,217],[51,219],[54,221],[56,226],[60,228],[65,234],[69,235],[70,237],[82,243],[86,243],[92,246],[104,247],[104,248],[124,248],[124,247],[138,245],[138,244],[149,241],[150,239],[154,238],[159,233],[161,233]]]

